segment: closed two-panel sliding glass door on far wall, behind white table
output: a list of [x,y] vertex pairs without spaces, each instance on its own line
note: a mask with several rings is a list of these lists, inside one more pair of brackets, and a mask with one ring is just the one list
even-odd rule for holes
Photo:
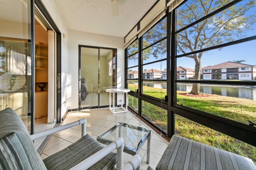
[[116,88],[116,53],[115,48],[79,45],[80,109],[109,106],[106,89]]

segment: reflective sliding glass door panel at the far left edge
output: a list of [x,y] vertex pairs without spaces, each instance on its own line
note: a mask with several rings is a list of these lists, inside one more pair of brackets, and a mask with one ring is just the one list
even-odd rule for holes
[[33,125],[31,1],[0,6],[0,111],[12,108],[28,131]]

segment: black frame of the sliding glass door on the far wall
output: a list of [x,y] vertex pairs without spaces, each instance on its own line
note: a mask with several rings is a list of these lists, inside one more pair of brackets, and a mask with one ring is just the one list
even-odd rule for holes
[[[92,107],[82,107],[81,106],[81,48],[94,48],[98,49],[98,106],[92,106]],[[78,45],[78,109],[95,109],[95,108],[104,108],[109,107],[109,105],[100,106],[100,49],[110,49],[115,51],[115,65],[117,65],[117,48],[110,48],[110,47],[98,47],[98,46],[91,46],[91,45]],[[117,69],[116,69],[117,70]],[[117,71],[115,71],[115,88],[116,88],[116,77],[117,77]],[[117,97],[117,94],[115,94],[115,98]],[[115,101],[115,106],[116,106]]]

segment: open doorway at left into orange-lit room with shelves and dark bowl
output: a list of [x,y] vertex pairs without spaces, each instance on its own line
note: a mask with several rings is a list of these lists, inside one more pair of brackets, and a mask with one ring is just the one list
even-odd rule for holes
[[[56,33],[35,13],[34,133],[56,125]],[[35,140],[38,148],[44,138]]]

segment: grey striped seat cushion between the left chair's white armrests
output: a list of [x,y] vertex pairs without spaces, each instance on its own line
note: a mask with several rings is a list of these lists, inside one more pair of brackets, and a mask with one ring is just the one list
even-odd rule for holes
[[[43,161],[48,170],[68,170],[102,148],[104,146],[100,142],[94,140],[89,134],[86,134],[75,143]],[[111,152],[89,169],[108,170],[112,169],[114,165],[116,165],[116,153]]]

